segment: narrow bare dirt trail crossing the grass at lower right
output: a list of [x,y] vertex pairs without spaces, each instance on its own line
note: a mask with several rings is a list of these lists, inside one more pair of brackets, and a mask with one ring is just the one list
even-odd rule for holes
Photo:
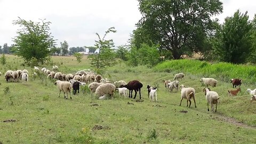
[[[245,127],[245,128],[249,128],[249,129],[256,129],[256,126],[251,126],[251,125],[244,124],[243,122],[238,122],[236,119],[231,118],[231,117],[226,117],[226,116],[222,116],[222,115],[220,115],[220,116],[210,115],[209,118],[216,119],[218,121],[225,121],[225,122],[228,122],[228,123],[240,126],[240,127]],[[239,128],[239,127],[237,127],[237,128]]]

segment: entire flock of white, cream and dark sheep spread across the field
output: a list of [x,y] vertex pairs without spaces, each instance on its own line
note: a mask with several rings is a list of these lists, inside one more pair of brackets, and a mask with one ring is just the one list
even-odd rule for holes
[[[32,76],[37,76],[38,73],[42,73],[47,75],[47,78],[56,79],[54,85],[57,85],[58,91],[59,91],[59,97],[60,93],[64,93],[64,98],[68,98],[68,93],[71,93],[71,89],[73,88],[73,94],[75,95],[77,92],[79,93],[79,87],[80,86],[86,86],[88,84],[88,88],[90,89],[91,93],[95,93],[99,99],[106,99],[106,95],[110,95],[110,97],[114,97],[115,91],[118,90],[119,97],[120,95],[124,95],[124,97],[127,97],[127,91],[129,90],[129,98],[132,98],[132,92],[134,90],[134,99],[137,96],[137,92],[139,92],[140,99],[141,99],[141,88],[143,86],[142,83],[140,83],[137,80],[130,81],[129,83],[126,83],[124,81],[116,81],[114,83],[111,83],[108,79],[104,79],[101,75],[95,75],[90,69],[85,70],[79,70],[77,73],[73,74],[62,74],[58,71],[58,66],[53,66],[52,71],[46,68],[42,68],[41,71],[38,67],[34,67],[34,73]],[[0,72],[0,75],[2,73]],[[20,80],[22,83],[28,82],[28,70],[7,70],[5,73],[5,79],[7,82],[19,82]],[[164,80],[164,86],[165,89],[169,89],[171,92],[173,89],[175,89],[175,92],[179,91],[179,87],[181,88],[181,100],[180,100],[180,106],[183,99],[187,99],[187,107],[189,102],[189,107],[191,106],[191,99],[193,99],[195,103],[196,108],[196,100],[195,100],[195,89],[193,87],[186,87],[185,85],[180,85],[180,82],[177,81],[177,79],[182,79],[185,75],[183,73],[176,74],[173,78],[173,81],[170,80]],[[207,101],[207,107],[209,111],[209,103],[211,105],[211,110],[214,111],[214,105],[215,105],[215,111],[217,111],[217,103],[220,99],[217,92],[211,91],[208,86],[215,87],[217,86],[218,81],[214,78],[201,78],[200,82],[205,85],[205,89],[203,89],[203,92],[205,93],[205,98]],[[241,86],[242,79],[231,79],[231,83],[234,86]],[[207,88],[206,88],[207,87]],[[150,101],[157,101],[157,87],[152,87],[150,85],[147,85],[148,90],[148,98]],[[236,90],[230,90],[228,91],[230,96],[236,95],[239,91],[241,91],[240,87]],[[252,97],[252,100],[256,100],[256,89],[250,90],[247,89],[247,92],[249,92]],[[71,94],[70,94],[70,99]]]

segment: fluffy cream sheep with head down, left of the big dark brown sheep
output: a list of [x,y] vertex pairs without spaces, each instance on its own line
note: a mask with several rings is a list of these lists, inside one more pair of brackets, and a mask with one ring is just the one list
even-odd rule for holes
[[98,95],[98,97],[101,97],[102,95],[110,94],[110,97],[114,98],[115,90],[116,90],[116,86],[114,84],[106,83],[98,86],[97,89],[95,90],[95,94]]

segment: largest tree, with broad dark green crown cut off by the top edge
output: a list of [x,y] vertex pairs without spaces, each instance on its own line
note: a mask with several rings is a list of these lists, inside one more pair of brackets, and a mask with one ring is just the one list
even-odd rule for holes
[[174,59],[199,51],[197,44],[203,43],[212,28],[211,17],[222,12],[219,0],[138,1],[142,18],[132,40],[138,42],[134,39],[138,37],[143,43],[159,44],[160,51],[171,51]]

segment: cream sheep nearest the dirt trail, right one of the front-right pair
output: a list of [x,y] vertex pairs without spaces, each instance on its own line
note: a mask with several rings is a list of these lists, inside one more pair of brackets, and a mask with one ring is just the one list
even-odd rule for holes
[[205,98],[207,101],[207,107],[209,111],[209,103],[211,104],[212,111],[214,111],[214,104],[216,104],[215,112],[217,112],[217,103],[220,99],[219,94],[214,91],[210,91],[209,89],[204,89],[203,92],[205,92]]

